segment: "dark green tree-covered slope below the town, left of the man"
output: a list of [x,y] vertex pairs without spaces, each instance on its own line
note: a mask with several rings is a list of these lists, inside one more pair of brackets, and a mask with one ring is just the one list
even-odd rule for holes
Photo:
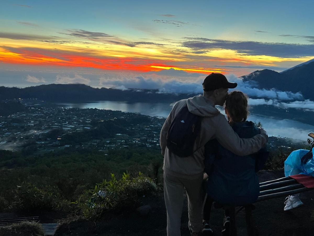
[[64,203],[58,208],[67,208],[68,201],[77,200],[86,189],[110,178],[110,173],[122,175],[127,170],[130,173],[141,171],[162,181],[162,160],[159,150],[148,148],[109,150],[108,155],[98,151],[65,150],[44,156],[0,150],[0,209],[13,207],[16,200],[13,190],[23,182],[44,190],[45,187],[40,186],[49,185],[51,193]]

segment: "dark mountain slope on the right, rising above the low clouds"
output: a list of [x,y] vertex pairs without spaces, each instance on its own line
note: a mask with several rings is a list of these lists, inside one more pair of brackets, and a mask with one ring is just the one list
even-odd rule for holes
[[256,81],[260,88],[276,88],[281,91],[301,92],[306,99],[314,99],[314,61],[278,73],[273,70],[257,70],[241,76],[244,81]]

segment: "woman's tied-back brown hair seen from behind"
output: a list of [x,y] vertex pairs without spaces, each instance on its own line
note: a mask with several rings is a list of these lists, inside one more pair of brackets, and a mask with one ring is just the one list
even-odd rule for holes
[[230,124],[246,121],[250,115],[247,110],[247,97],[240,91],[233,91],[229,94],[225,109]]

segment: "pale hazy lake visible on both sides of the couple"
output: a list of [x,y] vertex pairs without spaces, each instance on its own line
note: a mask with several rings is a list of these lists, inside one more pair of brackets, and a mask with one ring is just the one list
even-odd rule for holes
[[[105,110],[120,110],[123,112],[140,113],[149,116],[167,117],[171,111],[172,104],[169,103],[128,103],[121,101],[99,101],[89,103],[57,103],[64,108],[97,108]],[[217,107],[223,114],[224,109]],[[274,106],[254,106],[248,118],[249,121],[260,121],[268,132],[269,136],[283,136],[306,140],[307,134],[314,131],[314,126],[291,119],[285,119],[288,111],[278,109]],[[290,112],[302,114],[300,110],[290,109]],[[269,115],[269,114],[272,115]],[[309,114],[311,114],[310,112]],[[297,120],[304,120],[306,117],[299,117]],[[311,119],[309,119],[311,120]],[[310,122],[308,122],[310,123]]]

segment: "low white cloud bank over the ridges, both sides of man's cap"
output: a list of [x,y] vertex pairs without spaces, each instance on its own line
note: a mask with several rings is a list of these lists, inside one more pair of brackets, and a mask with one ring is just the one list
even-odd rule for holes
[[[302,100],[301,93],[284,92],[276,89],[259,89],[254,84],[243,81],[235,75],[227,75],[231,82],[238,83],[235,89],[242,91],[252,98],[277,99],[281,101]],[[186,76],[160,76],[158,74],[151,75],[126,75],[126,76],[106,76],[100,78],[100,86],[119,87],[124,86],[127,89],[157,89],[159,93],[185,93],[185,94],[203,94],[202,83],[204,75],[198,77]]]

